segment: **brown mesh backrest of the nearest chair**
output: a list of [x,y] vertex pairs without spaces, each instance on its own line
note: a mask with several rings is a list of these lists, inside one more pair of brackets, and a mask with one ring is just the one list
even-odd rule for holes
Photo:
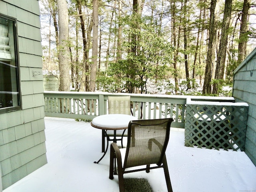
[[130,121],[123,168],[148,164],[160,166],[169,141],[172,121],[172,118]]

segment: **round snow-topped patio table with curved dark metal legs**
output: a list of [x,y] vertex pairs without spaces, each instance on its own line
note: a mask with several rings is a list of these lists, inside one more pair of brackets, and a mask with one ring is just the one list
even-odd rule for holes
[[[127,129],[128,124],[131,120],[138,120],[138,118],[131,115],[125,115],[125,114],[106,114],[106,115],[97,116],[92,120],[91,125],[94,128],[103,130],[107,138],[107,146],[103,156],[98,161],[95,161],[94,163],[99,163],[102,160],[102,158],[106,155],[109,141],[113,141],[116,143],[116,140],[117,140],[116,130]],[[107,130],[114,131],[113,139],[110,139],[110,136],[107,134]]]

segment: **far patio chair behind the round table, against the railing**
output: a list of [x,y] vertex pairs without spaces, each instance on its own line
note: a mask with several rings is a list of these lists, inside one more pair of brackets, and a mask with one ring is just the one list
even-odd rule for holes
[[[108,96],[108,114],[126,114],[131,115],[131,107],[130,107],[130,96]],[[110,132],[109,130],[108,132]],[[121,141],[121,145],[123,147],[123,137],[125,135],[125,130],[118,130],[116,136],[121,137],[117,140]],[[109,136],[114,136],[113,134],[108,134]],[[102,152],[105,150],[105,134],[102,130]]]

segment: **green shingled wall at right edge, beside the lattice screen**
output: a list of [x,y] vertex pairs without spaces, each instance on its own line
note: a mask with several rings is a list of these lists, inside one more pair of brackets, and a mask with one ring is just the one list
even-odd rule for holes
[[256,166],[256,48],[234,71],[233,97],[249,104],[245,152]]

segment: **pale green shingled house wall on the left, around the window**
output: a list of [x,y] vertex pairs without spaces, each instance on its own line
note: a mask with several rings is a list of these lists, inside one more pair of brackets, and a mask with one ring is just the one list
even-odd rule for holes
[[0,114],[2,188],[47,163],[42,46],[38,0],[0,0],[0,13],[17,19],[22,110]]

